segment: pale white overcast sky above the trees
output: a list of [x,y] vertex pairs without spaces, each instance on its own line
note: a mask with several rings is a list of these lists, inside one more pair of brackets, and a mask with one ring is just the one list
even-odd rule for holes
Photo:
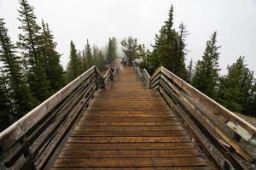
[[[57,49],[63,54],[66,68],[70,40],[78,49],[86,38],[98,47],[105,46],[108,37],[120,42],[127,36],[150,48],[154,35],[174,6],[175,28],[183,21],[190,33],[186,59],[201,59],[206,42],[218,31],[221,73],[240,56],[246,56],[250,69],[256,71],[256,0],[28,0],[35,8],[38,22],[44,19],[53,31]],[[18,0],[0,0],[0,18],[5,19],[9,35],[17,41],[16,19]],[[119,44],[120,47],[120,44]]]

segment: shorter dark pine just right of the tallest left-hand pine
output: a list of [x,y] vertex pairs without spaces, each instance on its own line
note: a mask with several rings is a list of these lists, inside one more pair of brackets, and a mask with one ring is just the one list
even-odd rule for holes
[[42,54],[44,55],[44,69],[46,71],[47,78],[49,80],[49,87],[51,94],[61,89],[65,85],[65,78],[63,74],[63,68],[60,63],[61,54],[56,51],[56,42],[54,42],[54,37],[49,31],[48,24],[44,24],[42,21],[42,38],[41,46]]

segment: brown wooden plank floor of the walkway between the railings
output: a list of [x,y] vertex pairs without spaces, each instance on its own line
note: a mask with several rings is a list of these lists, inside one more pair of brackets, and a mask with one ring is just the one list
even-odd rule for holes
[[93,102],[52,169],[207,169],[187,133],[158,92],[132,67],[121,70]]

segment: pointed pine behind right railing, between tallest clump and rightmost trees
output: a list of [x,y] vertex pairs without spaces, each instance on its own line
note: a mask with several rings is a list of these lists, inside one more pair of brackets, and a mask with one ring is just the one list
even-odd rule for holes
[[195,73],[192,77],[192,85],[199,89],[202,93],[215,99],[218,85],[218,48],[217,31],[212,33],[211,40],[207,41],[207,48],[195,65]]

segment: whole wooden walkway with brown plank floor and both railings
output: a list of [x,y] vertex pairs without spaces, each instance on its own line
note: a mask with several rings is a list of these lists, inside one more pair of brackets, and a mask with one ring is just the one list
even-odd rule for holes
[[[150,88],[150,89],[149,89]],[[160,67],[96,67],[0,133],[17,169],[247,169],[256,128]]]

